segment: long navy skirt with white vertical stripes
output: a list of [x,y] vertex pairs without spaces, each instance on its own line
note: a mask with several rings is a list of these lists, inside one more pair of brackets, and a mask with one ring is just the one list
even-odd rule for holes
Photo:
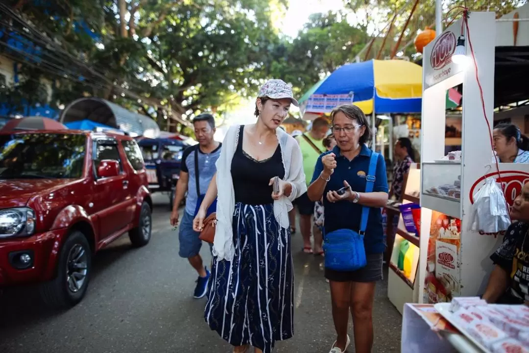
[[270,353],[294,334],[294,271],[290,229],[273,205],[235,204],[233,261],[214,259],[204,317],[232,346]]

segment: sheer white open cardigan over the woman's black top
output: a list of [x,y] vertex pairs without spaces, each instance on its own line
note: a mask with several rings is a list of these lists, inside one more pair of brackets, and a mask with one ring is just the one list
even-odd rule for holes
[[[231,177],[231,164],[239,140],[240,125],[230,127],[222,143],[221,155],[217,159],[217,225],[213,241],[213,255],[217,260],[232,261],[235,254],[233,245],[233,212],[235,210],[235,193]],[[307,191],[303,157],[298,142],[282,129],[276,129],[276,136],[281,147],[281,159],[285,167],[286,182],[292,185],[290,196],[282,196],[273,202],[273,214],[281,228],[290,227],[288,211],[292,202]]]

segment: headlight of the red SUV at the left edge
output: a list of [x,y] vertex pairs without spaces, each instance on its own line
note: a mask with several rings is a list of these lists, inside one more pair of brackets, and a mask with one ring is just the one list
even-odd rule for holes
[[28,207],[0,210],[0,238],[31,236],[35,231],[35,212]]

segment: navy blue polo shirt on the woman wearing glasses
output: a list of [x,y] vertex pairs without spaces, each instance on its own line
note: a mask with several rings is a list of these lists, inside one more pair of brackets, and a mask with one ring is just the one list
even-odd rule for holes
[[[323,205],[325,206],[325,233],[330,233],[338,229],[352,229],[359,231],[360,217],[362,215],[362,205],[350,201],[340,201],[331,203],[327,201],[325,195],[331,190],[338,190],[343,187],[343,180],[347,180],[353,191],[362,193],[366,190],[366,175],[369,170],[369,161],[372,151],[362,144],[362,149],[358,156],[349,161],[340,154],[338,146],[332,151],[323,153],[316,161],[312,182],[314,182],[323,171],[322,157],[333,152],[336,155],[336,169],[331,174],[331,179],[325,186]],[[388,192],[388,178],[386,175],[386,162],[382,155],[378,156],[377,171],[375,173],[375,184],[373,192]],[[366,236],[364,237],[364,247],[367,254],[380,254],[384,252],[384,230],[382,228],[382,215],[379,207],[371,207],[367,222]]]

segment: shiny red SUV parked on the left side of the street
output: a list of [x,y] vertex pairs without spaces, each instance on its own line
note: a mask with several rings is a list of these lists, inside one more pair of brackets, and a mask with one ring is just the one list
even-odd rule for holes
[[152,200],[138,144],[75,130],[0,133],[0,287],[40,283],[44,301],[73,306],[92,257],[123,233],[151,238]]

